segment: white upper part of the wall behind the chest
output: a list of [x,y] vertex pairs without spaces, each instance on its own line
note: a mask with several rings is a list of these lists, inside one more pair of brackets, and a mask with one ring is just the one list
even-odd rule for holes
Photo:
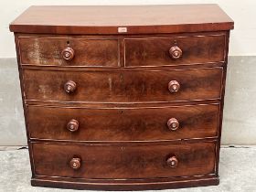
[[256,55],[255,0],[1,0],[0,1],[0,58],[15,58],[13,35],[9,23],[30,5],[167,5],[218,4],[235,21],[231,32],[230,56]]

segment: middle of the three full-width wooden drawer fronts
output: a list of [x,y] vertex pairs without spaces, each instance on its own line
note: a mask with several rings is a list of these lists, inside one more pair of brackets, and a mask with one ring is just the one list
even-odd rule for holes
[[31,138],[155,141],[218,135],[219,104],[140,109],[28,106]]

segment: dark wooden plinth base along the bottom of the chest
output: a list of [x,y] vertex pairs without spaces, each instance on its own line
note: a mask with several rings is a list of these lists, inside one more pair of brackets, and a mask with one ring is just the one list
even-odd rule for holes
[[[70,179],[69,179],[70,180]],[[128,180],[130,181],[130,180]],[[129,183],[117,183],[116,181],[108,182],[75,182],[65,181],[65,178],[57,180],[57,178],[49,179],[46,176],[41,178],[32,178],[31,185],[36,187],[59,187],[59,188],[77,188],[77,189],[91,189],[91,190],[157,190],[157,189],[168,189],[168,188],[180,188],[180,187],[206,187],[206,186],[217,186],[219,185],[219,177],[212,176],[209,178],[197,176],[197,178],[184,178],[178,180],[173,178],[168,181],[147,181],[147,182],[129,182]]]

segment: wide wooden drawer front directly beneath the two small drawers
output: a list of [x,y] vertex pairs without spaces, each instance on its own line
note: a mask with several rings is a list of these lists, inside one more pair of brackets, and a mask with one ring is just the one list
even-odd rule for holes
[[[176,91],[172,90],[174,81],[179,84]],[[152,102],[219,99],[221,82],[222,68],[111,72],[24,70],[26,99],[40,101]]]

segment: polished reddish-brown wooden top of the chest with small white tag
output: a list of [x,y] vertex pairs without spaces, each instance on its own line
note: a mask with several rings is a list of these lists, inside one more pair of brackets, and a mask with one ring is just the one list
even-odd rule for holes
[[219,5],[44,5],[30,6],[10,24],[10,30],[50,34],[150,34],[229,30],[233,25]]

